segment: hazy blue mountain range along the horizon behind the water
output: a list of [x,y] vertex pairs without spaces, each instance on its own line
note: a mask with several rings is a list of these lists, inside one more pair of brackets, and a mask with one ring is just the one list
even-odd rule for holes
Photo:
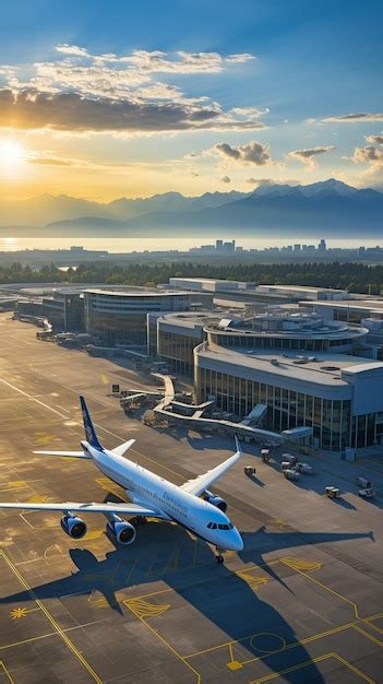
[[[121,198],[109,203],[44,194],[23,201],[0,201],[0,234],[14,236],[179,235],[274,233],[374,237],[383,229],[383,193],[358,190],[339,180],[289,186],[265,184],[253,192],[179,192],[147,199]],[[328,233],[326,233],[328,234]]]

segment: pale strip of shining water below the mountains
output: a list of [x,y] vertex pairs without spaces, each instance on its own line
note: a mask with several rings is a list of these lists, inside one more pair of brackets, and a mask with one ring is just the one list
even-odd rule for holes
[[[85,249],[107,250],[109,252],[132,252],[132,251],[168,251],[169,249],[178,249],[178,251],[187,251],[191,247],[200,247],[201,244],[213,245],[216,237],[202,239],[200,238],[140,238],[140,237],[125,237],[125,238],[85,238],[80,237],[77,240],[73,237],[69,238],[24,238],[24,237],[0,237],[0,251],[17,251],[24,249],[69,249],[73,245],[82,246]],[[224,238],[225,241],[228,238]],[[356,240],[347,239],[330,239],[327,247],[336,248],[357,248],[360,245],[366,247],[374,247],[376,240],[367,240],[361,237]],[[286,245],[294,245],[295,243],[308,243],[310,245],[318,245],[319,239],[290,237],[289,239],[284,236],[278,238],[248,238],[238,237],[236,244],[240,245],[244,249],[265,249],[265,247],[283,247]],[[383,245],[383,240],[381,243]]]

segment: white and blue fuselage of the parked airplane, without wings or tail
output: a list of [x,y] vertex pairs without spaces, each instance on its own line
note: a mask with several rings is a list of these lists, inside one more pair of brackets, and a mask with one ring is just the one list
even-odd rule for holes
[[220,550],[243,549],[240,533],[216,506],[108,449],[82,445],[100,472],[123,487],[134,504],[152,506],[165,519],[178,522]]

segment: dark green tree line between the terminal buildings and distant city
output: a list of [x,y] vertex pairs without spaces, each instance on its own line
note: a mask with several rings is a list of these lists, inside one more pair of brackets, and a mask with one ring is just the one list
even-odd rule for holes
[[383,291],[383,266],[363,263],[193,263],[188,261],[140,261],[80,263],[62,271],[53,263],[32,269],[14,262],[0,266],[0,283],[99,283],[105,285],[156,286],[169,278],[215,278],[251,281],[268,285],[335,287],[349,292],[379,295]]

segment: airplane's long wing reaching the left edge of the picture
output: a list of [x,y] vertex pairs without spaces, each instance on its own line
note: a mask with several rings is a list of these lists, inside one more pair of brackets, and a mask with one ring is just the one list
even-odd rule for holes
[[62,504],[29,504],[29,503],[17,503],[17,504],[9,504],[0,502],[1,508],[13,508],[19,510],[51,510],[51,511],[61,511],[61,512],[99,512],[99,514],[122,514],[127,516],[144,516],[148,518],[158,518],[163,520],[167,520],[168,516],[160,510],[156,510],[155,508],[151,508],[147,506],[141,506],[140,504],[94,504],[94,503],[75,503],[75,502],[63,502]]

